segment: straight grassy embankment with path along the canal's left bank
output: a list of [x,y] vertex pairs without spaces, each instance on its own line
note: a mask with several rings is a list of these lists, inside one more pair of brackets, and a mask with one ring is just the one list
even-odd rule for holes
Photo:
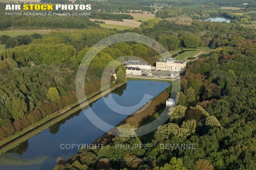
[[[111,88],[107,88],[107,86],[103,87],[103,92],[101,91],[94,92],[93,94],[87,96],[88,102],[85,102],[81,104],[81,107],[85,107],[88,104],[90,104],[93,101],[98,100],[103,95],[106,95],[107,93],[111,92],[113,89],[122,86],[124,83],[115,84]],[[29,125],[27,128],[24,128],[22,131],[19,131],[12,136],[6,137],[5,139],[0,141],[0,155],[4,152],[7,152],[9,149],[14,148],[15,146],[18,146],[20,143],[28,140],[30,137],[33,137],[36,134],[39,134],[41,131],[45,130],[46,128],[49,128],[50,126],[54,125],[55,123],[61,121],[62,119],[66,118],[67,116],[70,116],[71,114],[75,113],[76,111],[81,109],[78,101],[76,101],[74,104],[70,104],[69,106],[64,107],[61,110],[58,110],[55,113],[52,113],[49,116],[44,117],[38,122],[35,122],[34,124]]]

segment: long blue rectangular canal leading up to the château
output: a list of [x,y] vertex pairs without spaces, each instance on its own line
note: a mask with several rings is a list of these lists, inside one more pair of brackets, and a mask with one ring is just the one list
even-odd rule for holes
[[[139,103],[144,94],[156,96],[170,84],[155,81],[128,81],[108,95],[121,106],[133,106]],[[108,98],[107,95],[104,98]],[[145,101],[144,104],[146,104]],[[99,98],[90,104],[92,110],[105,122],[116,125],[126,115],[119,115]],[[142,106],[142,105],[141,105]],[[139,106],[139,107],[141,107]],[[87,106],[88,107],[88,106]],[[138,107],[138,108],[139,108]],[[137,109],[138,109],[137,108]],[[86,110],[85,110],[86,111]],[[131,110],[133,113],[135,110]],[[82,114],[81,114],[82,113]],[[9,152],[0,155],[0,170],[49,170],[56,165],[58,157],[67,160],[77,153],[78,149],[60,149],[61,143],[89,144],[104,134],[96,128],[80,110],[66,119],[52,125],[40,134],[31,137]]]

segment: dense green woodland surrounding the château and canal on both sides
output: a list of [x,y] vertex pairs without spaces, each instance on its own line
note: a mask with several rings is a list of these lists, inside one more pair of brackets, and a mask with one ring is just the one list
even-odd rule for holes
[[[106,11],[112,10],[111,12],[128,10],[134,6],[137,6],[137,9],[140,9],[140,6],[144,6],[143,8],[150,6],[147,4],[149,2],[144,1],[131,1],[130,5],[120,0],[119,3],[114,3],[115,0],[109,4],[108,2],[110,1],[94,2],[94,5],[98,8],[104,6]],[[166,3],[160,0],[153,2]],[[169,2],[170,5],[179,6],[192,3],[195,3],[195,0]],[[201,4],[201,1],[196,0],[196,3]],[[208,3],[215,4],[211,6]],[[46,35],[0,36],[0,44],[6,45],[6,50],[0,53],[0,140],[21,131],[58,109],[73,104],[77,100],[76,72],[88,50],[101,39],[130,31],[149,36],[168,50],[204,47],[215,51],[187,66],[186,75],[181,80],[177,107],[173,114],[170,114],[170,119],[156,131],[143,137],[102,138],[98,142],[107,144],[104,149],[81,149],[67,161],[58,158],[58,165],[54,170],[256,169],[256,148],[253,145],[256,131],[256,30],[243,27],[243,24],[255,22],[255,16],[253,13],[235,16],[232,11],[217,8],[227,4],[239,6],[240,0],[232,2],[211,0],[207,3],[204,1],[205,4],[211,8],[204,6],[200,10],[192,11],[171,10],[166,7],[156,14],[159,18],[144,22],[133,30],[103,29],[88,18],[67,17],[59,20],[59,18],[45,19],[44,16],[45,20],[42,23],[38,22],[40,17],[37,20],[30,18],[30,26],[76,27],[80,30],[51,32]],[[247,10],[251,11],[253,7],[240,9],[237,12],[248,12]],[[192,20],[195,18],[193,16],[201,18],[214,12],[231,18],[231,23]],[[0,29],[12,26],[27,27],[27,18],[29,18],[0,17],[2,19]],[[103,13],[95,15],[96,17],[101,19]],[[111,20],[116,20],[111,18],[112,15],[109,17]],[[123,17],[121,18],[125,19]],[[58,20],[57,23],[52,22],[52,19]],[[165,49],[161,51],[165,52]],[[85,80],[87,94],[97,92],[101,88],[102,75],[105,85],[126,81],[125,69],[119,65],[132,58],[119,58],[124,54],[141,57],[152,66],[157,61],[157,53],[141,44],[122,42],[105,48],[94,58],[89,67]],[[104,72],[107,63],[116,58],[118,59]],[[118,75],[116,81],[110,75],[113,67],[116,68]],[[122,93],[122,88],[114,92]],[[153,99],[148,109],[129,117],[121,127],[138,127],[158,117],[165,107],[164,103],[169,93],[170,88],[160,93]],[[51,132],[56,133],[55,130]],[[124,132],[120,131],[120,133]],[[114,144],[134,143],[149,143],[149,149],[117,150],[114,146]],[[196,149],[165,150],[159,149],[160,143],[195,143]],[[15,152],[22,153],[22,151]],[[114,162],[107,159],[99,161],[100,158],[130,157],[157,159],[151,162]]]

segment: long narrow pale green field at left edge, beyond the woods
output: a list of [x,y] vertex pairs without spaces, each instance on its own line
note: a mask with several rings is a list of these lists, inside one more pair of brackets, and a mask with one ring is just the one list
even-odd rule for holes
[[5,30],[5,31],[0,31],[0,36],[6,35],[6,36],[15,37],[15,36],[31,35],[34,33],[43,35],[52,31],[63,32],[63,31],[72,31],[72,30],[77,30],[77,29]]

